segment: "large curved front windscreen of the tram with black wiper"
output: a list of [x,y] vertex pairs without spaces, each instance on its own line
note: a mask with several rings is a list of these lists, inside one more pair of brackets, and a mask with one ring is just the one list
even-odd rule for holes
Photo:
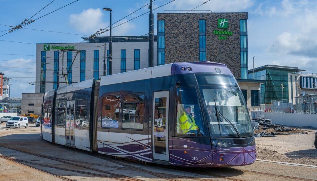
[[[206,106],[205,111],[212,137],[238,138],[239,135],[241,137],[253,136],[248,109],[238,87],[200,86],[200,89]],[[223,116],[220,116],[220,114],[217,116],[216,105],[217,112]]]

